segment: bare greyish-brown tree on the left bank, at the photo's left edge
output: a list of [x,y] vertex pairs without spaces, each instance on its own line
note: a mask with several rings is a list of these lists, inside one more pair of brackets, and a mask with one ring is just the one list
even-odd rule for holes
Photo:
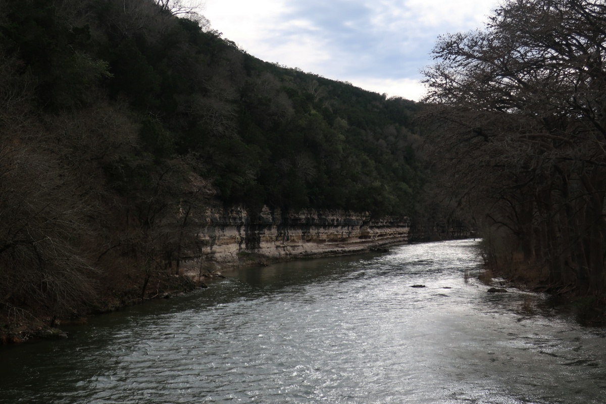
[[96,206],[56,158],[56,143],[32,118],[33,80],[0,55],[0,298],[27,302],[55,322],[95,296],[85,249]]

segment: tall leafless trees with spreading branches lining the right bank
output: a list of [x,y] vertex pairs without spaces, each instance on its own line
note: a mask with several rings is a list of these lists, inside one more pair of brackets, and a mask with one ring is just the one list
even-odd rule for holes
[[444,185],[513,237],[498,259],[582,294],[605,288],[605,44],[603,1],[507,1],[425,70]]

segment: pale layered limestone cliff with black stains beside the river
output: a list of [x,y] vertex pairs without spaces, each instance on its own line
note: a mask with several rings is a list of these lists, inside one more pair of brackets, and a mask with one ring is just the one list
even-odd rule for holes
[[409,228],[408,219],[375,220],[368,213],[283,212],[267,207],[256,217],[242,208],[208,208],[198,222],[201,258],[220,266],[238,266],[250,257],[262,263],[263,259],[356,253],[407,242]]

